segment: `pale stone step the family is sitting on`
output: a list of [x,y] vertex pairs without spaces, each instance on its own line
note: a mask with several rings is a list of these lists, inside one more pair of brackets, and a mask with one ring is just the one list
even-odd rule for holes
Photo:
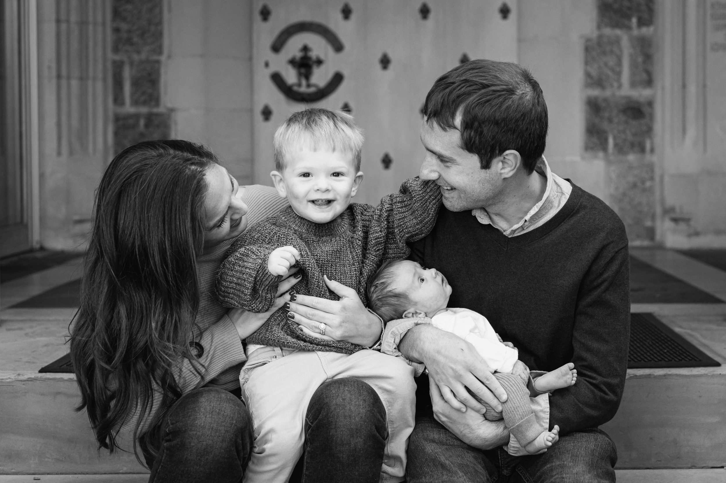
[[[704,352],[726,363],[726,304],[648,305],[633,310],[655,312]],[[97,452],[88,418],[73,411],[79,401],[74,376],[37,372],[68,352],[63,337],[72,315],[73,310],[59,309],[0,312],[0,474],[141,478],[133,475],[147,470],[133,454]],[[726,465],[725,423],[726,366],[631,369],[620,410],[603,429],[618,447],[617,468],[714,468]],[[124,442],[124,447],[132,446]],[[677,481],[637,471],[645,472],[623,473],[621,481]]]

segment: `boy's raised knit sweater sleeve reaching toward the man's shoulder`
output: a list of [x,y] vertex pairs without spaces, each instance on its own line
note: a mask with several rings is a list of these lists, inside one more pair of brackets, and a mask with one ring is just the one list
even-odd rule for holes
[[440,205],[439,185],[419,178],[407,179],[399,192],[384,196],[372,211],[370,223],[372,241],[377,233],[384,237],[383,259],[407,256],[406,243],[433,230]]

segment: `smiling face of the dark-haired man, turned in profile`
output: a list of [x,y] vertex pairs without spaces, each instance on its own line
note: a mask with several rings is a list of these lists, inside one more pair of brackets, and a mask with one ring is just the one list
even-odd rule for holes
[[481,169],[479,157],[461,147],[457,129],[444,131],[433,121],[423,121],[421,142],[426,158],[419,176],[436,180],[447,209],[465,211],[492,204],[502,189],[502,179],[494,169]]

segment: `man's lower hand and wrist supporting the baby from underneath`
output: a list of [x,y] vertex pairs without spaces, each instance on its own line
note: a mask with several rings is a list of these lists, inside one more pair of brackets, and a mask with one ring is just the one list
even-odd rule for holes
[[439,385],[431,381],[428,388],[433,405],[433,417],[467,445],[480,450],[492,450],[509,442],[509,430],[504,421],[486,421],[481,414],[455,410],[439,391]]

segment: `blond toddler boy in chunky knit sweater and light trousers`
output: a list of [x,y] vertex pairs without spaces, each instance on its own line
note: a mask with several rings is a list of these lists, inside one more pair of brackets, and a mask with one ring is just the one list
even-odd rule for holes
[[[302,277],[295,293],[338,300],[327,285],[336,280],[365,301],[367,280],[380,263],[407,256],[406,243],[431,231],[441,203],[434,182],[409,179],[379,206],[351,203],[363,179],[362,144],[353,118],[339,111],[303,110],[277,129],[276,171],[271,175],[290,207],[234,242],[217,279],[223,305],[265,312],[293,266],[300,267],[295,276]],[[319,332],[325,335],[325,324]],[[342,377],[360,378],[377,391],[388,424],[381,476],[391,482],[404,479],[415,412],[409,365],[366,347],[305,333],[284,307],[247,344],[240,383],[255,443],[245,482],[287,482],[302,453],[304,417],[314,391],[327,379]]]

